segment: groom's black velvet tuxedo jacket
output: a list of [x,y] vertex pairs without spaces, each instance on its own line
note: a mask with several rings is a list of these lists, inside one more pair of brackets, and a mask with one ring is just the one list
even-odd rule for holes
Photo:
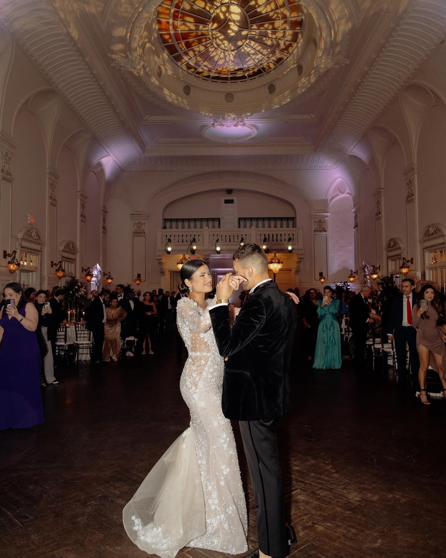
[[289,411],[294,302],[269,282],[256,288],[232,329],[227,306],[210,309],[209,314],[219,352],[228,357],[222,393],[225,417],[273,420]]

